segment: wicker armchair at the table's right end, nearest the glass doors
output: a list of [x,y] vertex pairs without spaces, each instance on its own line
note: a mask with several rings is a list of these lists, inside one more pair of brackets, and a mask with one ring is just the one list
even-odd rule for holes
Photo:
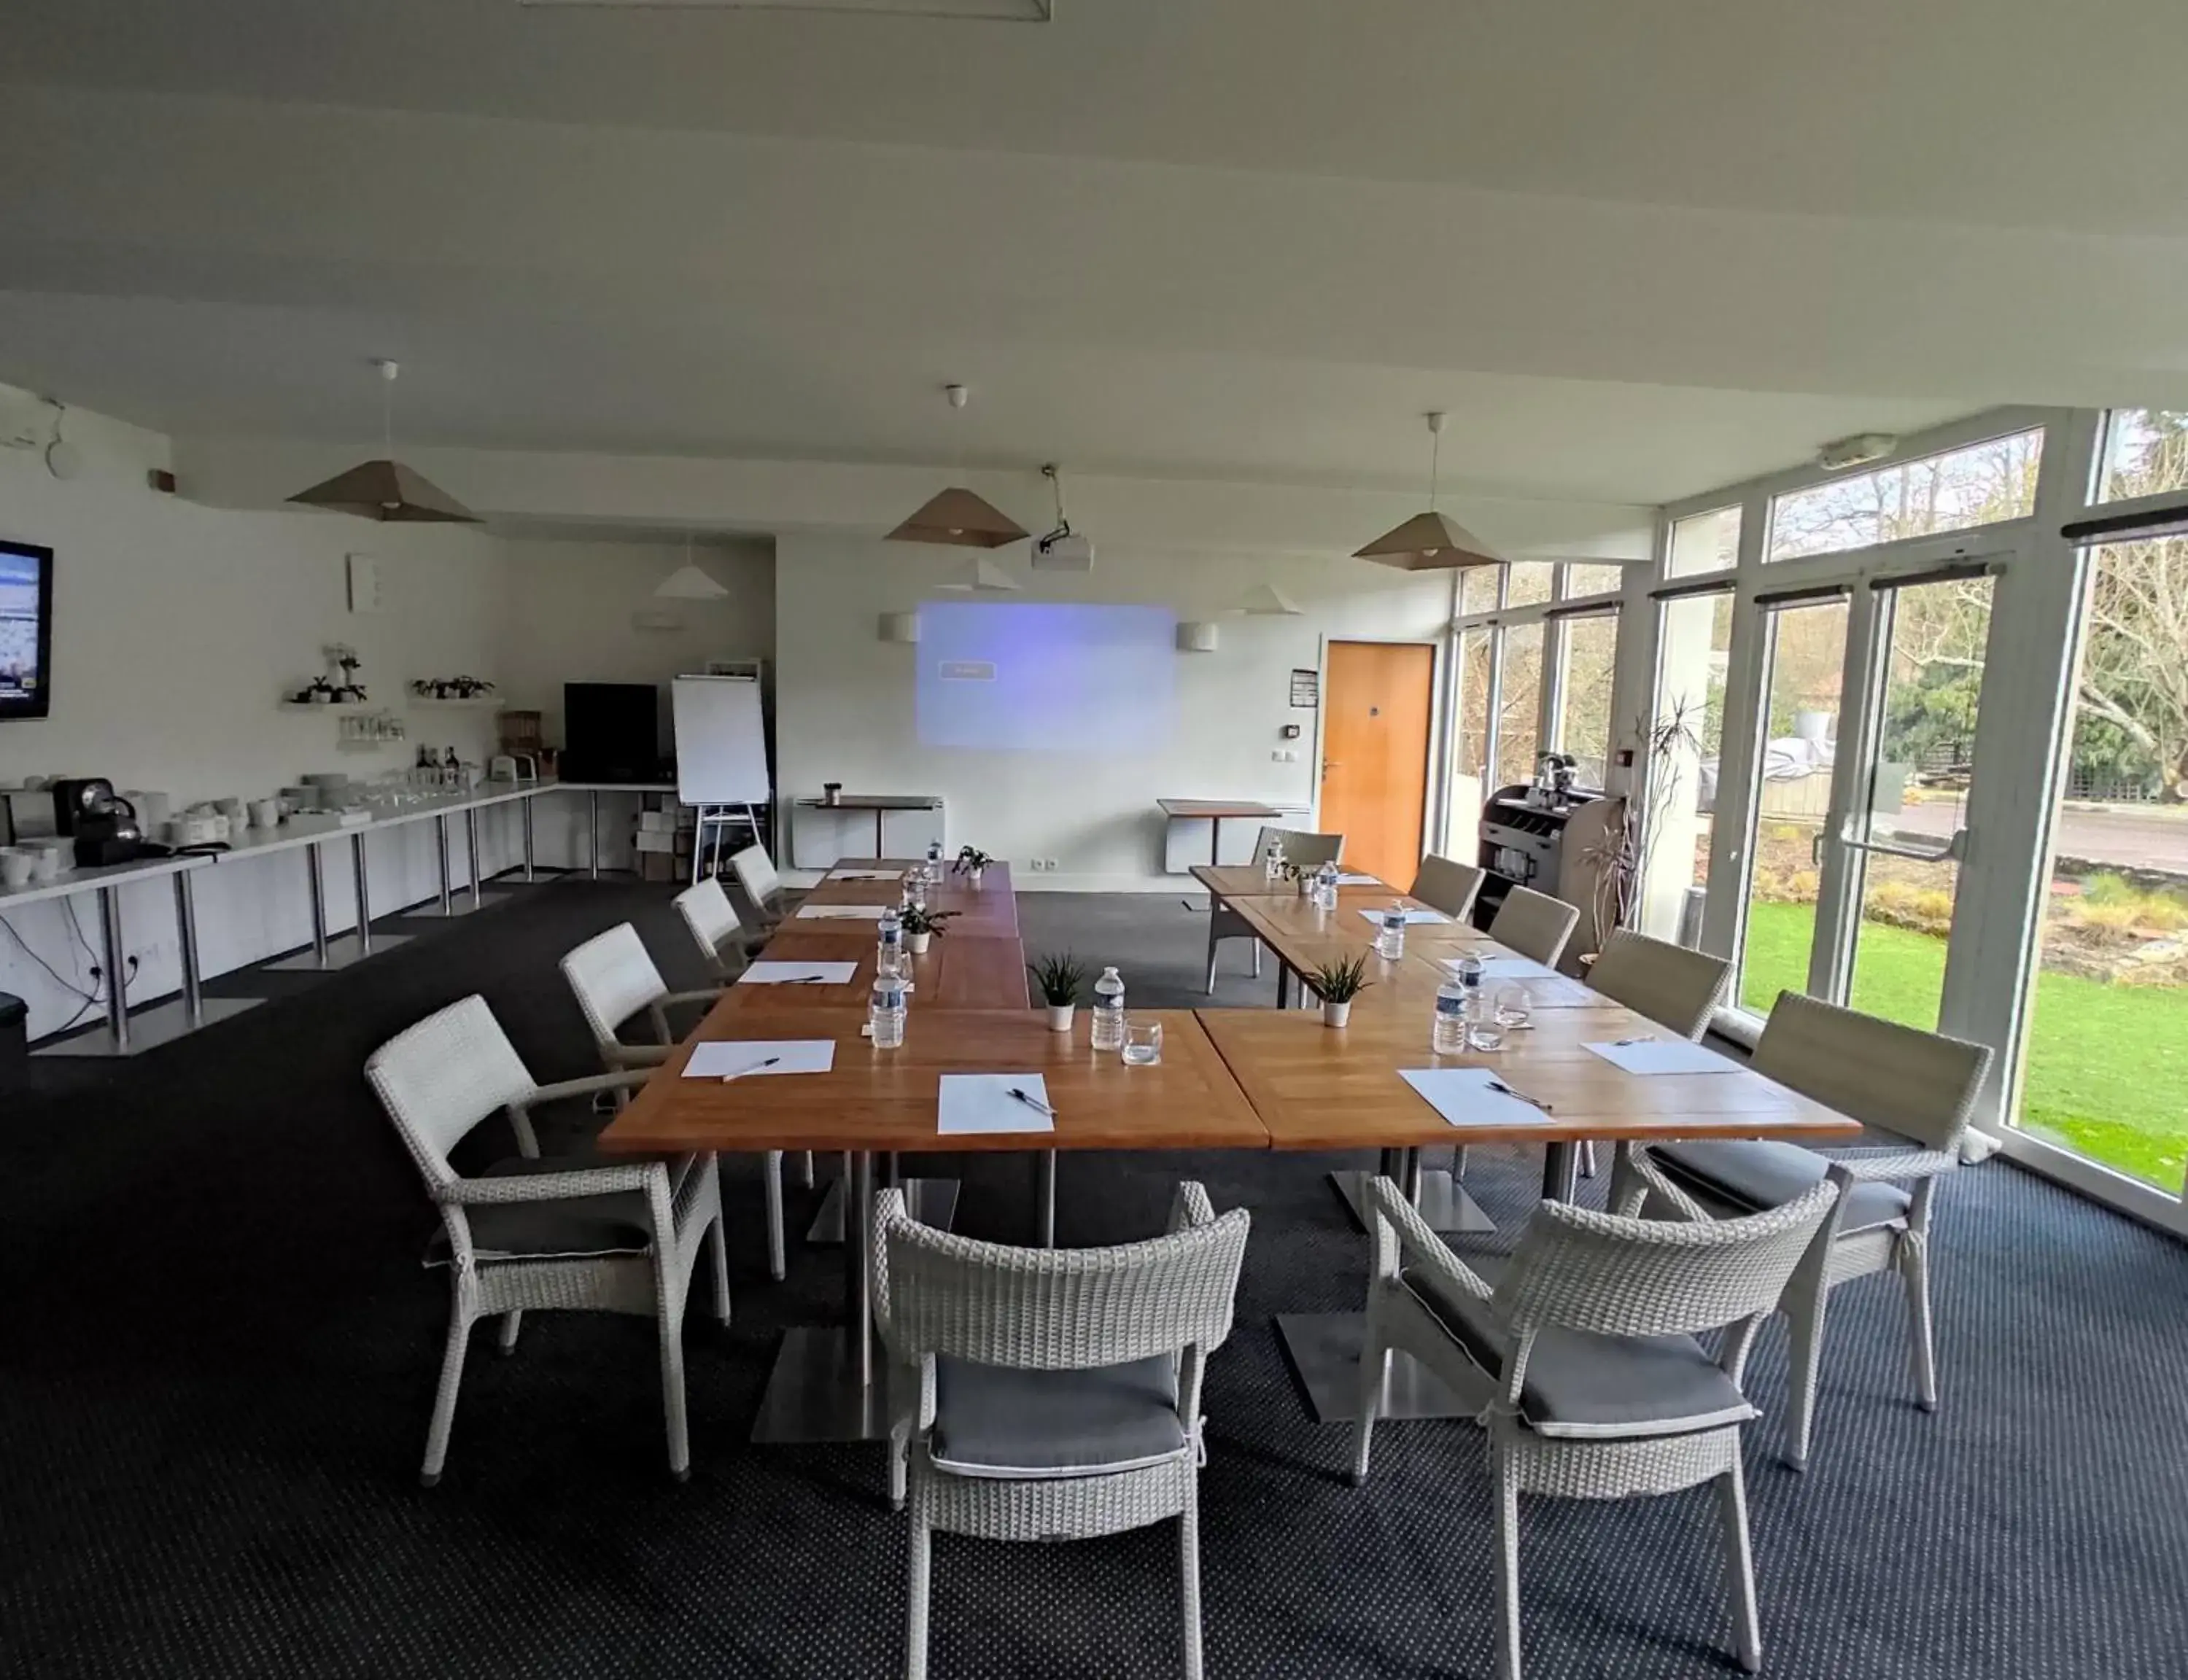
[[[1630,1175],[1643,1159],[1661,1168],[1661,1177],[1648,1183],[1648,1205],[1659,1218],[1737,1218],[1783,1205],[1823,1179],[1842,1190],[1783,1302],[1792,1328],[1785,1461],[1805,1470],[1816,1424],[1823,1308],[1831,1291],[1851,1278],[1899,1273],[1908,1297],[1915,1400],[1923,1411],[1936,1411],[1932,1199],[1939,1177],[1960,1164],[1960,1140],[1991,1070],[1991,1050],[1785,991],[1755,1046],[1753,1068],[1860,1120],[1873,1135],[1862,1140],[1862,1148],[1831,1155],[1742,1140],[1621,1144],[1610,1197],[1617,1205],[1632,1192]],[[1904,1183],[1912,1183],[1912,1192]]]

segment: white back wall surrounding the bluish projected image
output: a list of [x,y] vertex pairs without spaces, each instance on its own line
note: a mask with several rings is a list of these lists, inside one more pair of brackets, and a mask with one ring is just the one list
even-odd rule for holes
[[[1006,567],[1026,588],[993,599],[1171,606],[1179,619],[1221,619],[1221,648],[1177,654],[1177,731],[1153,757],[928,748],[912,715],[917,648],[880,641],[875,621],[934,597],[958,567],[963,553],[952,549],[831,536],[777,540],[779,794],[818,794],[823,781],[858,792],[941,794],[950,847],[971,842],[1013,860],[1017,884],[1028,888],[1175,888],[1179,877],[1162,875],[1162,796],[1308,803],[1315,713],[1291,709],[1291,669],[1319,667],[1326,637],[1440,643],[1451,617],[1451,573],[1403,573],[1361,560],[1103,547],[1092,573],[1072,575],[1028,573],[1022,558],[1011,558]],[[1260,582],[1287,591],[1304,615],[1223,617]],[[1300,742],[1278,735],[1291,722],[1304,724]],[[1297,750],[1297,763],[1271,761],[1282,746]],[[1059,868],[1033,875],[1026,858],[1057,858]]]

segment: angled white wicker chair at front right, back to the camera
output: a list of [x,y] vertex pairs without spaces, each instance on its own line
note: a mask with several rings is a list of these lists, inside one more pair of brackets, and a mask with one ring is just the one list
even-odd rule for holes
[[[1634,1179],[1650,1183],[1652,1166]],[[1481,1400],[1497,1501],[1497,1676],[1518,1680],[1518,1496],[1632,1498],[1718,1483],[1739,1665],[1761,1667],[1739,1389],[1755,1332],[1838,1188],[1809,1186],[1768,1214],[1665,1225],[1540,1203],[1512,1258],[1483,1280],[1438,1240],[1389,1179],[1368,1186],[1368,1286],[1352,1479],[1368,1479],[1383,1367],[1403,1350]],[[1632,1197],[1639,1203],[1639,1194]],[[1483,1267],[1486,1269],[1486,1267]],[[1698,1332],[1724,1330],[1711,1358]]]

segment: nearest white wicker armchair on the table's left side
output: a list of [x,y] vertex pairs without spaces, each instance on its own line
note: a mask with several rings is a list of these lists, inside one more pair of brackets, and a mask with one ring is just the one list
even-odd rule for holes
[[[484,998],[464,998],[389,1039],[365,1081],[440,1210],[427,1264],[449,1267],[449,1345],[418,1479],[431,1488],[449,1457],[455,1391],[470,1326],[501,1317],[501,1352],[516,1348],[527,1310],[635,1312],[661,1330],[661,1400],[670,1470],[691,1474],[683,1387],[683,1308],[698,1249],[713,1236],[713,1312],[729,1323],[729,1251],[713,1155],[678,1162],[562,1166],[538,1157],[532,1109],[643,1081],[639,1072],[536,1085]],[[497,1109],[519,1159],[459,1177],[449,1151]]]

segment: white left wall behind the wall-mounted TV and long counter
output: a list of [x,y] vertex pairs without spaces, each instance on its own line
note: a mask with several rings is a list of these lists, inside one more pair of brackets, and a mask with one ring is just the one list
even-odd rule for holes
[[[0,394],[22,402],[20,392]],[[190,801],[271,794],[306,770],[372,774],[400,766],[407,748],[337,750],[333,718],[278,707],[284,689],[324,674],[324,643],[354,645],[365,685],[392,702],[416,676],[490,674],[505,595],[492,538],[453,525],[201,508],[147,486],[147,470],[168,464],[158,433],[72,409],[68,435],[85,470],[66,483],[35,451],[0,451],[0,536],[55,551],[53,715],[0,722],[0,785],[98,774]],[[383,612],[348,612],[346,553],[379,560]],[[477,752],[492,718],[418,713],[411,735]],[[486,842],[492,871],[508,860],[505,825],[492,825]],[[370,860],[374,910],[435,888],[431,825],[374,836]],[[208,976],[311,938],[298,853],[197,871],[195,890]],[[352,899],[339,851],[328,855],[328,901],[333,923],[346,925]],[[96,947],[96,901],[79,899],[77,914]],[[123,919],[140,958],[129,995],[173,991],[168,886],[129,890]],[[7,923],[90,989],[92,958],[59,903],[11,912]],[[33,1032],[55,1030],[81,1002],[4,932],[0,991],[31,1002]]]

